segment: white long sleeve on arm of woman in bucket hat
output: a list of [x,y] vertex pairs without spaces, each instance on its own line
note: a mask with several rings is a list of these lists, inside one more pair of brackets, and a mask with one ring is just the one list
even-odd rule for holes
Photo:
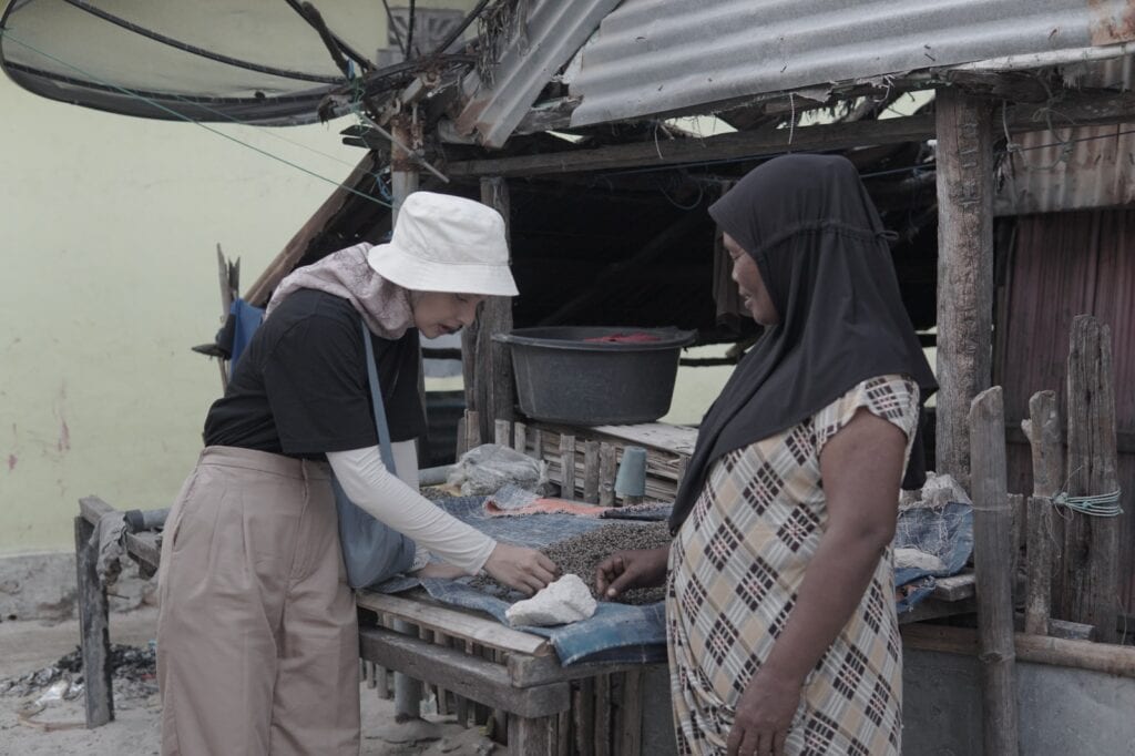
[[397,476],[382,464],[378,446],[328,452],[327,461],[346,495],[368,514],[469,574],[479,572],[496,541],[418,493],[413,442],[392,444],[390,451]]

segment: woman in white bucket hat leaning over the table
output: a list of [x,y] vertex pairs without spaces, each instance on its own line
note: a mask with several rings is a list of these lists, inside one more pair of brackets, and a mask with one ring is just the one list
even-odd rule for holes
[[[455,571],[529,594],[556,577],[539,552],[494,541],[417,488],[418,334],[457,330],[486,296],[516,293],[501,216],[429,192],[406,199],[389,244],[340,250],[280,283],[166,528],[163,754],[359,751],[359,635],[331,472]],[[381,461],[360,317],[404,480]]]

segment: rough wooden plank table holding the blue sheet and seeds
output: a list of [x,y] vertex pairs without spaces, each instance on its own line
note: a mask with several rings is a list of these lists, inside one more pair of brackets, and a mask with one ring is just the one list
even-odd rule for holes
[[[103,515],[115,512],[91,496],[81,499],[75,518],[89,728],[114,719],[107,591],[95,571],[98,546],[92,534]],[[132,560],[157,571],[158,534],[127,534],[125,540]],[[972,573],[942,579],[928,599],[900,615],[900,622],[972,612],[973,594]],[[636,756],[651,728],[670,726],[669,720],[659,721],[669,711],[650,712],[642,705],[646,686],[669,684],[665,664],[605,662],[565,667],[546,638],[513,630],[478,612],[439,604],[421,589],[400,595],[362,590],[356,591],[355,602],[362,610],[359,654],[370,687],[381,692],[387,671],[436,687],[439,713],[456,711],[464,725],[472,713],[474,724],[497,729],[497,739],[507,733],[510,754]],[[413,635],[388,627],[395,622],[412,627]],[[583,742],[587,746],[581,749]]]

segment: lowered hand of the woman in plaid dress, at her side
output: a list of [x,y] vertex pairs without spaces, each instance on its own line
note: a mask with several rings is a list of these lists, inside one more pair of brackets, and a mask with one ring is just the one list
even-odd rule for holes
[[729,756],[783,756],[788,729],[800,706],[799,680],[763,667],[749,680],[737,703],[733,729],[726,741]]

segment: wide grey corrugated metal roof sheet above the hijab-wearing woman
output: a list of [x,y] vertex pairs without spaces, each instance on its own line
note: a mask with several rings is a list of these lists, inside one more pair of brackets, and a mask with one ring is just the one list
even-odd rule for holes
[[571,124],[1132,39],[1135,0],[623,0],[583,51]]

